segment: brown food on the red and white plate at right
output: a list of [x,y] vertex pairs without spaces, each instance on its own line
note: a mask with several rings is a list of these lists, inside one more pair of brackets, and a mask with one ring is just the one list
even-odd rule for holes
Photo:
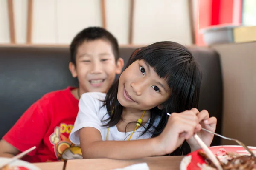
[[[221,150],[225,152],[226,150]],[[205,159],[207,164],[198,164],[201,170],[217,170],[212,161],[203,151],[198,154]],[[248,155],[240,155],[238,153],[226,152],[224,155],[216,154],[223,170],[256,170],[256,158]]]

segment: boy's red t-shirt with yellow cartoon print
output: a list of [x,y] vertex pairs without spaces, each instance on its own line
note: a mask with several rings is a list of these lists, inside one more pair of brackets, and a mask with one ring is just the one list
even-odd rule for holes
[[3,136],[6,142],[21,152],[37,147],[23,160],[46,162],[82,158],[80,147],[69,139],[79,102],[71,94],[72,89],[68,87],[45,94]]

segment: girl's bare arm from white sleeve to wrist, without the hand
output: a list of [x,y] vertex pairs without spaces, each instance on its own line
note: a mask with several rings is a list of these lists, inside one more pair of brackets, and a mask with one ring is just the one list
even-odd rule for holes
[[79,139],[84,158],[139,159],[165,154],[164,151],[160,151],[159,147],[156,147],[158,145],[156,138],[132,141],[102,141],[99,130],[93,127],[80,129]]

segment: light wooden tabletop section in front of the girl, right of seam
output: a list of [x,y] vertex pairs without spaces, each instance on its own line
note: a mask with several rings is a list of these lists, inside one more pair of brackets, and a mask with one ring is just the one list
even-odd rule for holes
[[146,162],[150,170],[179,170],[183,156],[156,156],[135,160],[74,159],[67,161],[65,170],[111,170]]

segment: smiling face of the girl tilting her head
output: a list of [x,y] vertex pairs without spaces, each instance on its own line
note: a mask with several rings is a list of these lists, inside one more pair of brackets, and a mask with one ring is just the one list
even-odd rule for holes
[[144,60],[133,62],[119,78],[117,99],[126,108],[150,110],[161,105],[170,95],[166,80],[161,79]]

